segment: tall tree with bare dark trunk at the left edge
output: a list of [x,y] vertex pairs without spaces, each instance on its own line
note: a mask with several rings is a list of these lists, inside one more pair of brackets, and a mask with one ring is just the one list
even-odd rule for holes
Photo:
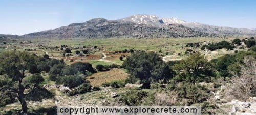
[[[7,51],[0,54],[0,69],[10,79],[9,85],[5,85],[0,88],[0,91],[9,91],[15,94],[18,101],[22,105],[22,112],[27,113],[28,107],[25,101],[25,97],[29,95],[42,80],[31,80],[36,81],[33,83],[24,82],[26,78],[25,71],[28,70],[30,64],[35,64],[37,58],[28,52],[20,51]],[[29,89],[28,93],[24,93],[25,89]]]

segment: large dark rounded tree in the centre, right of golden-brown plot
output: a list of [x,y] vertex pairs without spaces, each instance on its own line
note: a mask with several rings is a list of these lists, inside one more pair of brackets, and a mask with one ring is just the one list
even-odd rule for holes
[[136,52],[127,57],[123,67],[130,73],[130,79],[139,79],[148,88],[151,82],[167,80],[172,77],[172,71],[154,52]]

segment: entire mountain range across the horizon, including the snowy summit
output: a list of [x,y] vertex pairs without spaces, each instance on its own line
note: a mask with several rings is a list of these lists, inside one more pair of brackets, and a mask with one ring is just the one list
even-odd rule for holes
[[162,38],[212,37],[224,35],[256,35],[256,30],[232,28],[187,22],[178,18],[160,18],[138,14],[118,20],[95,18],[83,23],[72,23],[54,30],[17,35],[0,35],[9,38]]

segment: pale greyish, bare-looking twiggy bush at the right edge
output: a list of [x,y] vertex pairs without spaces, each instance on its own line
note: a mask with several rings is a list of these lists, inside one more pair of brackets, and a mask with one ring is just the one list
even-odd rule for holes
[[244,64],[241,66],[240,76],[232,74],[231,86],[226,89],[225,96],[228,101],[238,99],[247,101],[249,97],[256,95],[256,59],[251,56],[244,58]]

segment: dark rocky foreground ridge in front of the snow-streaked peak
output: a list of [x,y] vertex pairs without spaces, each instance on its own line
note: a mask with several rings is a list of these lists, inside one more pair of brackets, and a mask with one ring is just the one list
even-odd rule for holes
[[[154,17],[152,17],[154,18]],[[201,37],[216,36],[194,31],[181,24],[153,26],[126,20],[95,18],[84,23],[72,23],[54,30],[23,35],[23,38],[160,38],[160,37]]]

